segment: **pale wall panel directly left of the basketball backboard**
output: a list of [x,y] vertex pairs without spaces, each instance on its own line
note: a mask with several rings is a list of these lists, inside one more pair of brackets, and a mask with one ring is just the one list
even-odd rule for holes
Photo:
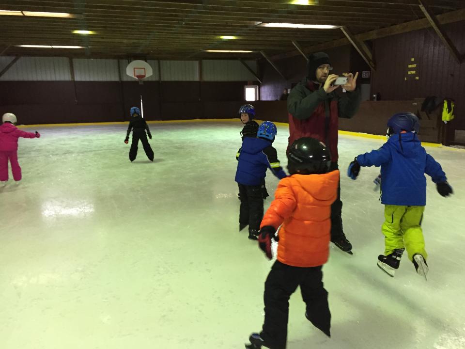
[[119,81],[118,61],[111,59],[73,59],[77,81]]

